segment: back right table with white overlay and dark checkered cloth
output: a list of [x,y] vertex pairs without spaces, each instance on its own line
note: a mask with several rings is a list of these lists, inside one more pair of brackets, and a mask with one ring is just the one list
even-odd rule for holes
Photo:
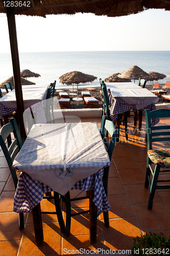
[[[141,110],[144,112],[145,109],[155,110],[155,103],[159,98],[151,93],[148,89],[141,88],[132,82],[122,83],[107,83],[109,101],[111,104],[110,118],[113,121],[117,120],[118,114],[122,114],[130,109],[134,111]],[[140,112],[141,112],[140,111]],[[159,118],[152,120],[152,125],[159,122]],[[141,129],[141,120],[139,124]]]

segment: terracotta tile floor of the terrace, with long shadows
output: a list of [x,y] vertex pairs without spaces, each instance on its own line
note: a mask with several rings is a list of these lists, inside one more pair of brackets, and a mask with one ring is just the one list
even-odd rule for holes
[[[98,122],[100,118],[84,118],[82,122]],[[164,119],[163,123],[169,123]],[[88,214],[71,220],[70,237],[61,232],[55,215],[42,215],[44,245],[35,244],[32,214],[26,215],[24,230],[18,229],[18,215],[12,210],[15,194],[10,172],[0,151],[0,254],[4,256],[68,255],[88,253],[88,250],[129,250],[133,237],[143,232],[163,232],[170,234],[170,189],[159,190],[154,198],[153,209],[147,209],[149,189],[144,188],[146,167],[145,118],[142,130],[132,125],[133,118],[128,118],[129,140],[125,141],[123,129],[120,142],[116,144],[109,173],[108,199],[110,227],[106,228],[103,214],[98,219],[98,236],[96,244],[89,243]],[[169,146],[159,143],[159,146]],[[73,190],[72,194],[77,191]],[[88,202],[74,203],[72,207],[79,210],[88,206]],[[63,206],[64,207],[64,206]],[[43,200],[41,208],[54,209],[53,202]],[[63,208],[65,218],[65,211]],[[102,251],[101,251],[102,252]]]

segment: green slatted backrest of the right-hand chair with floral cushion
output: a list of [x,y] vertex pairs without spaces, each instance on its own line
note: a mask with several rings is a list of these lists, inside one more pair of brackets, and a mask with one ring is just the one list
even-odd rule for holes
[[151,118],[170,117],[170,110],[158,109],[154,111],[145,110],[147,125],[147,151],[152,150],[152,142],[170,141],[170,125],[151,126]]

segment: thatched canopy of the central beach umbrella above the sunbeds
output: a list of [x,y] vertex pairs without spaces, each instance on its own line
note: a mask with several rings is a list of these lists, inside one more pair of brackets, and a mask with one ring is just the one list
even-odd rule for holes
[[98,77],[96,76],[87,75],[80,71],[72,71],[59,77],[60,82],[62,84],[66,83],[67,85],[72,83],[78,84],[78,83],[92,82],[97,78]]

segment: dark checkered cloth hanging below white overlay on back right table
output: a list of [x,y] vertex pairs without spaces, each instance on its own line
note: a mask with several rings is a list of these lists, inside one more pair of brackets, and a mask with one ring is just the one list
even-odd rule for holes
[[[113,97],[111,94],[110,89],[108,89],[108,96],[109,96],[109,102],[111,105],[110,108],[110,118],[112,119],[112,121],[116,121],[117,120],[117,115],[118,114],[122,114],[126,111],[129,111],[131,109],[133,109],[134,112],[137,111],[137,105],[136,104],[128,104],[127,102],[125,102],[122,98],[120,97]],[[148,106],[145,106],[144,108],[141,109],[142,112],[144,113],[144,110],[156,110],[156,106],[155,103],[152,103]],[[152,126],[156,125],[159,122],[159,118],[153,118],[151,121]]]

